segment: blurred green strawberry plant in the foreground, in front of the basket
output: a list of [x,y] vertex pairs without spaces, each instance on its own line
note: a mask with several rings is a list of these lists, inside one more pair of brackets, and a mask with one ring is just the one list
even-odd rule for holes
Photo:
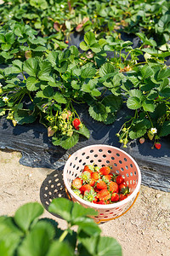
[[[57,198],[48,207],[65,219],[61,230],[52,218],[40,218],[43,207],[37,203],[21,206],[14,217],[0,217],[0,254],[18,255],[122,255],[122,247],[112,237],[100,236],[101,230],[92,218],[97,212],[65,198]],[[72,230],[77,226],[77,232]],[[93,245],[93,247],[91,247]]]

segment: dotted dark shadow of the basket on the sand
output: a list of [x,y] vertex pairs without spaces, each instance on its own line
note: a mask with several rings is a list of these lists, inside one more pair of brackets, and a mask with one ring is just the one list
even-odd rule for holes
[[[48,176],[42,182],[40,188],[40,201],[42,206],[48,211],[48,207],[51,201],[57,197],[65,197],[68,199],[65,193],[65,184],[63,181],[63,170],[64,166],[60,166],[54,172],[48,174]],[[49,212],[49,211],[48,211]],[[61,218],[58,214],[49,212],[57,218]]]

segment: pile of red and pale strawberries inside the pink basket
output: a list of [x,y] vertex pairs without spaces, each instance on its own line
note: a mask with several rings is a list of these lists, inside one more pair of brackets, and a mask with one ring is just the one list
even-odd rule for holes
[[124,178],[111,173],[109,166],[84,166],[81,176],[72,181],[71,189],[82,199],[101,205],[122,201],[129,195]]

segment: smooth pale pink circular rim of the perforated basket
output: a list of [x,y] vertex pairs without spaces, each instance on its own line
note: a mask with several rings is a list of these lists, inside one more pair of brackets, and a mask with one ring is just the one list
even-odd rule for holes
[[[67,171],[67,166],[70,164],[71,162],[71,159],[77,154],[77,153],[80,153],[81,151],[83,151],[84,149],[86,148],[93,148],[94,147],[102,147],[102,148],[111,148],[111,149],[116,149],[120,152],[122,152],[123,154],[126,154],[128,158],[130,158],[134,165],[136,166],[137,168],[137,171],[138,171],[138,174],[139,174],[139,179],[138,179],[138,183],[137,183],[137,186],[136,188],[133,190],[133,193],[129,196],[127,196],[126,199],[122,200],[122,201],[118,201],[116,203],[113,203],[113,204],[108,204],[108,205],[99,205],[99,204],[95,204],[93,202],[89,202],[89,201],[85,201],[83,200],[81,197],[79,197],[78,195],[76,195],[69,183],[67,182],[67,177],[66,177],[66,171]],[[115,207],[122,207],[123,205],[127,204],[127,202],[133,200],[133,198],[138,194],[139,192],[139,188],[140,188],[140,185],[141,185],[141,172],[140,172],[140,169],[139,169],[139,166],[137,164],[137,162],[133,159],[133,157],[130,155],[130,154],[127,154],[126,151],[120,149],[120,148],[116,148],[114,146],[110,146],[110,145],[105,145],[105,144],[94,144],[94,145],[90,145],[90,146],[87,146],[87,147],[83,147],[83,148],[80,148],[78,149],[76,152],[74,152],[73,154],[71,154],[70,158],[66,161],[65,163],[65,167],[64,167],[64,170],[63,170],[63,179],[64,179],[64,183],[65,183],[65,188],[68,190],[68,192],[74,196],[74,198],[79,201],[80,203],[82,203],[83,205],[86,205],[87,207],[91,207],[91,208],[96,208],[96,209],[105,209],[105,210],[109,210],[109,209],[113,209]]]

